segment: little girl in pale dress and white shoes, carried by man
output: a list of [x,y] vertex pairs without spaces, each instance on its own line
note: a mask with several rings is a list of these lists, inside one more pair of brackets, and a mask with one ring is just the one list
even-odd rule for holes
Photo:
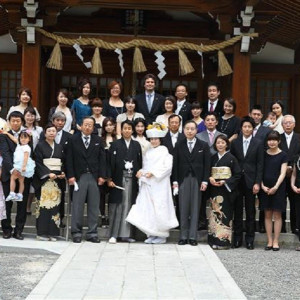
[[[30,178],[34,174],[35,162],[31,159],[29,146],[31,136],[27,131],[22,131],[18,138],[18,145],[14,152],[14,169],[21,173],[20,176],[11,174],[10,193],[6,201],[23,201],[24,177]],[[15,193],[16,180],[19,180],[19,193]]]

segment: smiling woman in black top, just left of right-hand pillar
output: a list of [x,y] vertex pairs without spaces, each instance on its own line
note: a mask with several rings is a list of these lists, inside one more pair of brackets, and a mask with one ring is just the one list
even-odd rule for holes
[[226,98],[223,109],[224,116],[221,117],[217,129],[224,133],[229,138],[229,141],[232,142],[238,137],[241,128],[241,120],[235,115],[236,102],[232,98]]

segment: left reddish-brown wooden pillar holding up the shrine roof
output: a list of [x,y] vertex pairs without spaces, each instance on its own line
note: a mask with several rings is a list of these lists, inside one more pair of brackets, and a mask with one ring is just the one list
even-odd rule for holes
[[32,104],[39,107],[40,104],[40,68],[41,47],[39,43],[23,44],[22,49],[22,86],[32,91]]

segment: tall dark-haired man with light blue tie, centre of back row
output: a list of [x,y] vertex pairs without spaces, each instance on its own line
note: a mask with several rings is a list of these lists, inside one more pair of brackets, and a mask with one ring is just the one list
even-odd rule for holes
[[147,124],[155,122],[158,115],[163,114],[164,96],[155,92],[156,77],[147,74],[144,77],[145,92],[136,95],[136,111],[143,114]]

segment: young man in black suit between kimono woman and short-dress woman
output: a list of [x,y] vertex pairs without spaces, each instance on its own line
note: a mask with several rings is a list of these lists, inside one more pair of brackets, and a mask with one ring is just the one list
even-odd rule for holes
[[234,203],[233,246],[239,248],[243,242],[243,200],[246,210],[246,247],[254,249],[255,195],[259,192],[263,175],[263,145],[252,136],[255,123],[252,118],[241,120],[241,133],[231,144],[231,153],[237,158],[242,170],[239,195]]

